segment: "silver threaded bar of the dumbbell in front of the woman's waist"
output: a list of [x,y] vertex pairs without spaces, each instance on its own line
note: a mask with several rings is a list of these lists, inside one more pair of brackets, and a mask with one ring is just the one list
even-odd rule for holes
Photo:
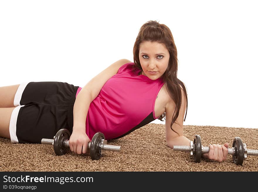
[[[42,144],[47,144],[47,145],[54,145],[54,139],[41,139]],[[121,146],[115,146],[115,145],[107,145],[107,140],[101,139],[99,147],[101,150],[105,151],[121,151]],[[67,139],[65,141],[65,147],[70,147],[69,146],[69,140]],[[88,143],[88,150],[91,147],[91,142]]]

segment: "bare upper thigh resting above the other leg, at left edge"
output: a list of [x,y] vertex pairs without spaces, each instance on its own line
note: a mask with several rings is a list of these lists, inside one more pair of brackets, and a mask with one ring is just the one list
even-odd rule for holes
[[13,101],[19,85],[0,87],[0,108],[15,107]]

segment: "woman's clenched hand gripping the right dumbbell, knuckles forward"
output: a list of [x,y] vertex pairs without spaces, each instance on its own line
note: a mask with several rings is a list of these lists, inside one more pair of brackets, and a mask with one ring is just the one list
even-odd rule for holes
[[210,147],[209,153],[203,153],[202,154],[203,158],[215,160],[218,162],[222,162],[223,160],[227,159],[228,143],[224,143],[224,145],[210,144],[209,147]]

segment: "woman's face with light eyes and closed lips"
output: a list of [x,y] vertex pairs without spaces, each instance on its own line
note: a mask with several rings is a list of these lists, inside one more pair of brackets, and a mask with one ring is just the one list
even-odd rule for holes
[[[144,41],[139,46],[139,59],[142,74],[156,80],[163,75],[169,63],[169,51],[161,43]],[[151,73],[150,71],[156,71]]]

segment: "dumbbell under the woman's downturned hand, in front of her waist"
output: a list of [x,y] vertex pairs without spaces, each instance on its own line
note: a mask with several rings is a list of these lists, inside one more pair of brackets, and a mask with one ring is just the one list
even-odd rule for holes
[[[41,139],[42,144],[54,146],[56,155],[64,155],[69,148],[69,138],[71,134],[68,129],[60,129],[54,136],[54,139]],[[92,160],[99,160],[102,156],[101,151],[121,151],[121,146],[107,145],[107,140],[101,132],[97,132],[88,143],[88,150]]]

